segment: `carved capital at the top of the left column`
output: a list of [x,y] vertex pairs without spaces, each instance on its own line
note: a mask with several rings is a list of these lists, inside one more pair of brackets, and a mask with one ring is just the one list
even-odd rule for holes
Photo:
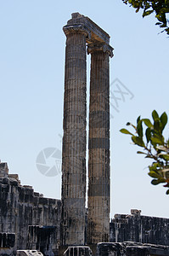
[[63,31],[65,32],[66,37],[72,32],[81,32],[87,38],[91,38],[91,32],[89,31],[87,26],[84,26],[83,24],[66,25],[63,27]]

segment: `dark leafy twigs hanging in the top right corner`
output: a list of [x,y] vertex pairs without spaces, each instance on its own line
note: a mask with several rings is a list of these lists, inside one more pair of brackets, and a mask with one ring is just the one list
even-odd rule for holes
[[140,9],[143,9],[143,17],[155,13],[155,18],[158,22],[155,25],[159,25],[164,28],[162,32],[166,32],[169,35],[169,26],[166,15],[169,13],[169,0],[122,0],[123,3],[130,4],[136,9],[136,13]]

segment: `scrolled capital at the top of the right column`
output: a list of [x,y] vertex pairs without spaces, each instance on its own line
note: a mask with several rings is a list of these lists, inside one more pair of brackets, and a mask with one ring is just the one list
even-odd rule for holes
[[104,44],[104,43],[97,43],[97,44],[87,44],[87,54],[92,54],[95,51],[103,51],[108,52],[110,57],[113,57],[113,48],[110,46],[110,44]]

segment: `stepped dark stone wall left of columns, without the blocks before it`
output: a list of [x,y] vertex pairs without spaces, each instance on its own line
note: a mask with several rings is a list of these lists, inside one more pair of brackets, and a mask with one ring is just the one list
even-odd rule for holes
[[20,185],[18,175],[8,174],[7,164],[0,163],[0,232],[15,234],[14,250],[26,248],[29,225],[55,226],[59,241],[60,208],[61,201]]

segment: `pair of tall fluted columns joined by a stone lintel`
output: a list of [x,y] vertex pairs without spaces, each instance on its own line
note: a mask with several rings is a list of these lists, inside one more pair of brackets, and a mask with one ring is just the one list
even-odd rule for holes
[[87,243],[110,236],[110,36],[72,14],[64,26],[65,98],[62,152],[63,244],[84,245],[86,226],[87,61],[91,54]]

